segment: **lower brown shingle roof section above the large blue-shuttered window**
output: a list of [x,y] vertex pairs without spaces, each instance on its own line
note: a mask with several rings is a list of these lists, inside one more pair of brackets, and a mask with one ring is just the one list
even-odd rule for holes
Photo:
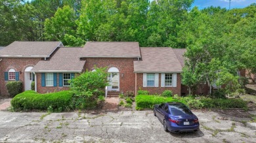
[[82,48],[60,47],[49,61],[39,61],[33,72],[81,72],[85,61],[77,56]]

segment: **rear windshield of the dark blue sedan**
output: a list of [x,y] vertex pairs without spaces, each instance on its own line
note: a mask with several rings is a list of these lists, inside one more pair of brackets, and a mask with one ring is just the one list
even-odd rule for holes
[[192,115],[192,112],[184,104],[169,104],[173,116]]

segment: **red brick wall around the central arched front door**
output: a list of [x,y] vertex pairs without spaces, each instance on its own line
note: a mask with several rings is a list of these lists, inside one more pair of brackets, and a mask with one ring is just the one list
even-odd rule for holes
[[[119,91],[135,93],[135,73],[132,58],[87,58],[85,69],[92,71],[96,67],[116,67],[119,70]],[[107,70],[108,70],[107,69]],[[123,77],[121,75],[123,74]]]

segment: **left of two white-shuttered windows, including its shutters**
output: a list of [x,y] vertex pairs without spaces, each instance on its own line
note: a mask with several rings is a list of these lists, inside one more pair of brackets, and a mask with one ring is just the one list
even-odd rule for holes
[[143,73],[143,87],[158,87],[159,73]]

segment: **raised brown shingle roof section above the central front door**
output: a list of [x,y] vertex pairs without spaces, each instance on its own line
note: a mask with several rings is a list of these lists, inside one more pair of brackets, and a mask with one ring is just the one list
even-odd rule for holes
[[139,42],[86,42],[79,57],[141,57]]

